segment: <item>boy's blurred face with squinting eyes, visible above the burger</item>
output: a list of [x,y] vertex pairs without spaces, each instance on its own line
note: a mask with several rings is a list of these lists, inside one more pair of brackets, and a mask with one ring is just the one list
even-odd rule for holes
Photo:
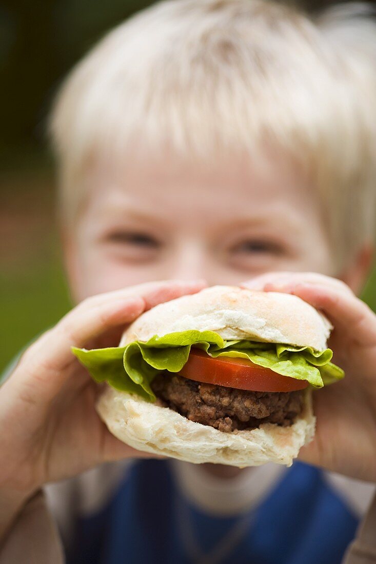
[[67,246],[77,300],[148,280],[335,274],[313,187],[283,160],[97,162],[84,182],[90,196]]

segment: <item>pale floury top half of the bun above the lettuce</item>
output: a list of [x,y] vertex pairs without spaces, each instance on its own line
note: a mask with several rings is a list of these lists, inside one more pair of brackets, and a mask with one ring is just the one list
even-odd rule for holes
[[152,336],[215,331],[226,340],[248,339],[326,349],[331,324],[307,302],[291,294],[213,286],[161,303],[128,327],[120,346]]

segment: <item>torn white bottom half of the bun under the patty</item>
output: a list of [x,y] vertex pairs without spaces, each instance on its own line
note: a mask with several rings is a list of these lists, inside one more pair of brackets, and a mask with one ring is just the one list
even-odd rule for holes
[[139,451],[239,468],[266,462],[291,466],[300,448],[312,439],[316,422],[311,390],[305,393],[301,416],[290,427],[264,423],[259,429],[232,433],[189,421],[168,407],[111,387],[100,396],[97,411],[115,437]]

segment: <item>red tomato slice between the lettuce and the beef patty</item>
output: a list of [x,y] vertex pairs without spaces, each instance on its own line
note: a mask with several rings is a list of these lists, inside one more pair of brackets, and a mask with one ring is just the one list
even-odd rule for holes
[[219,356],[192,349],[181,376],[196,382],[252,391],[295,391],[308,386],[307,380],[281,376],[270,368],[263,368],[243,358]]

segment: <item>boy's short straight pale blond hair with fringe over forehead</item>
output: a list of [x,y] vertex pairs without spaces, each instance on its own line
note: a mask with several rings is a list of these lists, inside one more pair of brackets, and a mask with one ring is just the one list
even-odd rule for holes
[[[268,144],[312,174],[338,254],[373,236],[376,26],[361,4],[318,17],[268,0],[170,0],[108,34],[65,82],[51,131],[62,204],[90,155],[137,139],[183,155]],[[78,190],[78,192],[80,192]]]

